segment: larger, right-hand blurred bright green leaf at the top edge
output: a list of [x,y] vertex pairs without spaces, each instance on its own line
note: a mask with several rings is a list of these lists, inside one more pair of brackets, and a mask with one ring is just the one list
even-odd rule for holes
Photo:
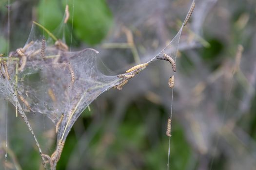
[[[68,22],[71,23],[73,0],[69,0],[68,5]],[[73,29],[82,41],[90,45],[98,44],[107,35],[112,23],[112,13],[105,0],[75,0]]]

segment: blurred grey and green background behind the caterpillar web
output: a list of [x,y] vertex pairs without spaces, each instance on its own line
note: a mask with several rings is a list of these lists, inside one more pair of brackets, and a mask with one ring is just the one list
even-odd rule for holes
[[[32,21],[59,38],[69,4],[65,39],[72,51],[95,48],[99,68],[123,73],[157,54],[177,34],[191,0],[0,0],[0,52],[23,47]],[[74,6],[74,11],[73,11]],[[73,17],[73,20],[72,20]],[[73,26],[73,27],[72,27]],[[184,28],[175,77],[171,170],[255,170],[256,1],[196,0]],[[102,67],[104,66],[104,67]],[[104,69],[103,69],[104,68]],[[107,68],[107,69],[106,69]],[[122,91],[111,89],[86,109],[70,132],[58,170],[164,170],[171,110],[172,68],[156,62]],[[7,113],[7,114],[6,114]],[[46,152],[54,126],[29,116]],[[6,127],[7,133],[6,133]],[[5,162],[5,140],[8,150]],[[43,169],[35,142],[15,108],[0,97],[0,169]]]

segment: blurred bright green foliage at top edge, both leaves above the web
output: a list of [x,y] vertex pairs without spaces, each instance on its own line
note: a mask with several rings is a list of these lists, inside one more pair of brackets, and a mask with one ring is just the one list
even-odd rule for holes
[[[69,30],[72,30],[73,22],[75,37],[89,45],[96,45],[102,41],[113,24],[113,16],[105,0],[76,0],[74,12],[73,0],[67,2],[70,13]],[[66,0],[62,0],[62,4],[59,4],[59,0],[40,0],[39,2],[39,23],[51,32],[59,26],[64,17]]]

